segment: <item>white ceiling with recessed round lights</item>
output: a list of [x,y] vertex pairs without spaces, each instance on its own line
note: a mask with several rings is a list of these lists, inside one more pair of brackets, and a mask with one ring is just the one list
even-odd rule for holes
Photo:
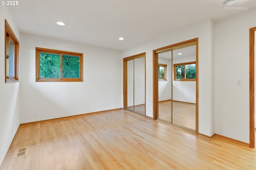
[[[151,41],[198,21],[256,8],[256,0],[20,0],[10,9],[20,32],[116,50]],[[63,21],[59,26],[56,21]],[[124,41],[118,40],[124,37]]]

